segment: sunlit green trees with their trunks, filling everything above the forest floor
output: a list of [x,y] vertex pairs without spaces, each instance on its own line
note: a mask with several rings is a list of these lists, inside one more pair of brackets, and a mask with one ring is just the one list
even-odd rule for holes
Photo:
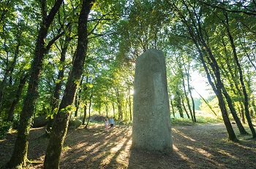
[[[26,164],[34,117],[56,135],[45,168],[58,166],[61,149],[50,164],[50,147],[62,146],[69,120],[132,121],[135,62],[148,49],[165,53],[170,115],[197,122],[201,109],[221,117],[230,140],[230,119],[255,138],[255,9],[251,0],[1,1],[0,134],[16,124],[20,136],[8,165]],[[194,72],[208,98],[192,95]]]

